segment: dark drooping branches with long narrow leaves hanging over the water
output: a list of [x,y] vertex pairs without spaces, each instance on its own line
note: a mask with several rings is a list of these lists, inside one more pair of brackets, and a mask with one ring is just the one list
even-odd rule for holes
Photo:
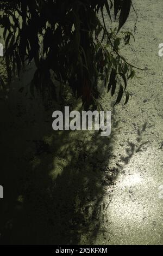
[[[119,91],[115,104],[123,93],[129,99],[127,79],[133,78],[132,66],[118,53],[121,41],[129,43],[130,32],[123,38],[117,32],[126,22],[131,0],[20,0],[11,1],[4,9],[0,25],[4,28],[5,61],[9,82],[12,73],[20,74],[21,67],[35,61],[37,70],[31,84],[44,96],[55,97],[55,80],[68,84],[85,108],[98,105],[98,80],[104,80],[111,96]],[[118,17],[118,29],[106,28],[104,9],[111,24],[111,13]],[[101,12],[102,21],[99,19]],[[40,41],[43,52],[40,54]]]

